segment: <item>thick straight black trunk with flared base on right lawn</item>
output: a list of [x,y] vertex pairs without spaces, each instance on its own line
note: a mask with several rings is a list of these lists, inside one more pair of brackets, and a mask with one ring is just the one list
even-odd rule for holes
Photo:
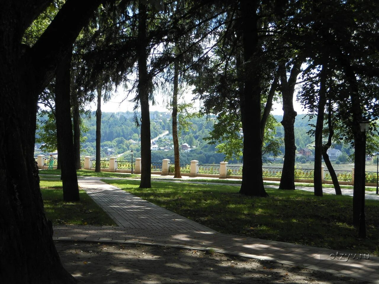
[[268,194],[263,186],[262,173],[260,73],[252,63],[253,56],[258,50],[257,8],[257,1],[246,0],[241,3],[244,88],[240,92],[243,129],[243,168],[240,193],[266,197]]

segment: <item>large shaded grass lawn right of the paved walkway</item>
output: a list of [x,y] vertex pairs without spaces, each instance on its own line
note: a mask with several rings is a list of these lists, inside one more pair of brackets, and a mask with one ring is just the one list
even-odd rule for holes
[[104,181],[221,233],[379,255],[374,200],[366,200],[368,237],[360,240],[349,196],[266,189],[270,197],[255,198],[235,186],[152,181],[151,189],[139,189],[139,181]]

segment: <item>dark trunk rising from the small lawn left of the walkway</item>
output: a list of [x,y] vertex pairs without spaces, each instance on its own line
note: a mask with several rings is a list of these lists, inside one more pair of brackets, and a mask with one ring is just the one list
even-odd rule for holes
[[72,135],[70,106],[70,68],[71,55],[67,53],[56,69],[55,114],[56,134],[60,137],[59,159],[63,184],[63,200],[79,201],[79,187],[74,165],[74,141]]

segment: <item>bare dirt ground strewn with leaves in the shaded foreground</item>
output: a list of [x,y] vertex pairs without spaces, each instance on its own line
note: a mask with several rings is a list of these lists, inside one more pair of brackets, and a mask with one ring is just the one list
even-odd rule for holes
[[64,267],[91,284],[366,283],[346,276],[219,253],[158,246],[55,242]]

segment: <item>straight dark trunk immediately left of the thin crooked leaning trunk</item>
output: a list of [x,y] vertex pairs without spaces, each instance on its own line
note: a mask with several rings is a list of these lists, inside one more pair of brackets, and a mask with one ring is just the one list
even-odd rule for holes
[[324,112],[326,105],[326,66],[323,64],[320,74],[320,90],[317,106],[317,120],[315,130],[315,170],[314,170],[314,186],[315,195],[323,196],[323,183],[321,180],[321,165],[323,155],[323,128],[324,128]]

